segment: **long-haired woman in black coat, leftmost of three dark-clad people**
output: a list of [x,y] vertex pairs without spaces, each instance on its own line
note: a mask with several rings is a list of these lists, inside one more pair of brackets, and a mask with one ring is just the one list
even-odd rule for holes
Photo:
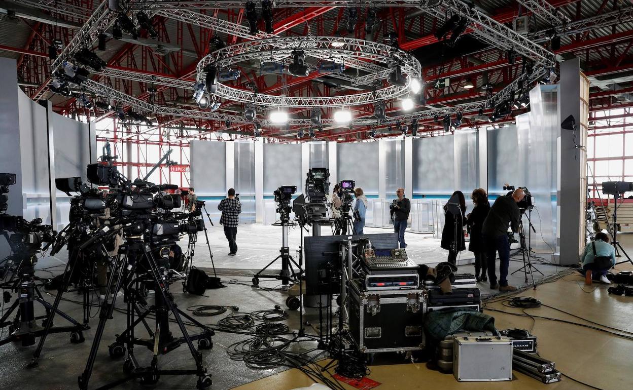
[[466,224],[466,199],[461,191],[453,192],[444,205],[444,229],[441,247],[448,250],[448,262],[457,265],[457,253],[466,249],[463,226]]

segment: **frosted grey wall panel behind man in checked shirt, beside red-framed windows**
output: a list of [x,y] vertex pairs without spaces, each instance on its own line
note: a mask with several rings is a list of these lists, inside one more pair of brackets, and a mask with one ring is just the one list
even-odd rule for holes
[[198,196],[227,192],[227,143],[192,140],[191,186]]

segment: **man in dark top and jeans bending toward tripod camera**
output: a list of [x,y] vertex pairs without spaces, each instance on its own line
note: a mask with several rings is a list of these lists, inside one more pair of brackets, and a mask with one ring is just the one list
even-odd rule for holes
[[[488,262],[488,278],[490,288],[499,288],[499,291],[514,291],[514,286],[508,285],[508,266],[510,265],[510,241],[508,241],[508,226],[513,232],[518,231],[521,220],[521,212],[517,203],[520,202],[525,193],[521,188],[517,188],[511,195],[502,195],[494,201],[484,226],[482,235],[486,243],[486,257]],[[496,252],[499,252],[499,283],[494,269]]]

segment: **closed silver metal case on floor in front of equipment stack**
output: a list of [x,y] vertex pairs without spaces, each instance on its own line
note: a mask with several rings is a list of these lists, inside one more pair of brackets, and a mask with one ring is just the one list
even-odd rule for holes
[[460,382],[511,381],[512,342],[500,336],[456,337],[453,375]]

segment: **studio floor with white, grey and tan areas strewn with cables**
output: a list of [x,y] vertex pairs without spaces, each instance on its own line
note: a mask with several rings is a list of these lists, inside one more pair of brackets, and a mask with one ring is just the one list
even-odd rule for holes
[[[270,229],[268,229],[270,228]],[[250,273],[253,269],[259,269],[274,258],[279,251],[280,228],[250,225],[241,227],[238,233],[238,255],[228,257],[227,245],[221,234],[221,229],[210,229],[211,250],[214,253],[216,268],[220,269],[222,280],[227,288],[207,290],[206,296],[194,296],[182,293],[180,283],[172,285],[175,300],[180,308],[185,310],[192,305],[229,305],[237,306],[241,312],[253,312],[254,310],[271,309],[274,305],[285,307],[286,293],[279,289],[259,289],[250,286]],[[268,230],[267,230],[268,229]],[[278,237],[275,235],[277,231]],[[368,229],[366,233],[384,233],[385,229]],[[291,247],[298,245],[298,231],[296,238],[291,233]],[[427,236],[407,234],[408,253],[411,257],[418,257],[418,262],[434,263],[445,259],[446,252],[437,248],[437,242]],[[627,251],[633,253],[633,235],[621,235],[620,239]],[[202,241],[202,242],[201,242]],[[248,241],[248,243],[246,242]],[[436,246],[434,246],[436,245]],[[206,250],[206,252],[204,252]],[[206,241],[201,236],[196,247],[196,264],[200,267],[210,266]],[[470,255],[462,253],[462,259]],[[272,257],[271,257],[272,256]],[[510,264],[510,271],[515,271],[522,262],[516,259]],[[58,272],[63,259],[42,259],[39,267],[48,268],[40,271],[42,277],[50,276],[49,271]],[[537,263],[548,260],[537,260]],[[633,379],[633,367],[630,363],[630,351],[633,350],[633,298],[610,296],[607,286],[594,284],[584,286],[582,277],[567,268],[553,265],[537,264],[539,270],[544,273],[549,283],[539,284],[536,290],[525,289],[514,295],[535,296],[546,306],[527,309],[525,314],[517,308],[508,308],[503,305],[503,296],[491,296],[494,292],[487,285],[480,283],[482,294],[487,296],[489,303],[486,305],[486,313],[495,317],[498,329],[519,327],[530,329],[539,341],[539,353],[541,356],[556,362],[556,367],[569,377],[584,382],[598,389],[615,390],[628,388]],[[630,264],[618,265],[618,271],[633,270]],[[472,272],[472,265],[460,265],[460,272]],[[542,277],[537,274],[537,279]],[[517,272],[511,279],[511,284],[522,286],[524,276]],[[264,281],[263,286],[276,287],[277,281]],[[498,291],[497,291],[498,293]],[[80,300],[76,293],[66,293],[68,300]],[[52,301],[52,296],[45,295],[46,300]],[[15,295],[14,295],[15,299]],[[117,304],[123,307],[123,303]],[[6,304],[4,305],[6,308]],[[79,319],[81,306],[75,302],[65,301],[61,303],[61,309]],[[503,312],[491,309],[503,310]],[[561,312],[559,310],[564,310]],[[230,310],[229,310],[230,312]],[[227,313],[228,314],[228,313]],[[96,315],[96,310],[91,313]],[[226,314],[216,317],[201,317],[204,324],[216,324]],[[549,317],[568,320],[577,324],[555,322],[549,319],[527,317],[525,315]],[[577,316],[574,317],[573,315]],[[306,332],[318,333],[318,311],[306,309],[304,320],[308,322]],[[56,320],[56,325],[64,321]],[[84,370],[85,360],[88,356],[96,329],[98,317],[90,320],[91,329],[84,332],[86,341],[82,344],[70,344],[68,334],[54,334],[49,336],[40,365],[35,369],[26,369],[30,361],[34,346],[22,347],[18,343],[9,343],[0,347],[0,388],[2,389],[77,389],[77,376]],[[289,312],[289,319],[285,321],[290,329],[298,329],[299,313]],[[594,324],[598,323],[597,324]],[[615,334],[579,326],[584,324],[623,334],[625,337]],[[108,356],[107,346],[112,343],[115,334],[125,327],[123,314],[115,312],[112,320],[108,320],[101,348],[97,353],[96,364],[91,379],[91,389],[113,381],[123,376],[122,360],[113,360]],[[171,325],[174,334],[178,330]],[[188,327],[191,333],[195,328]],[[3,332],[6,337],[6,328]],[[312,381],[296,369],[279,367],[268,370],[248,369],[244,362],[230,360],[227,348],[230,344],[245,339],[248,336],[241,334],[216,332],[213,338],[213,350],[203,351],[204,365],[213,375],[212,389],[293,389],[295,387],[309,386]],[[292,346],[293,351],[305,352],[315,348],[313,341],[304,341]],[[151,353],[141,347],[137,347],[137,356],[142,363],[149,363]],[[189,351],[181,346],[167,355],[160,356],[159,362],[164,369],[188,369],[192,368],[192,359]],[[389,364],[385,364],[389,362]],[[325,363],[325,362],[323,362]],[[385,356],[377,359],[375,365],[370,367],[370,379],[380,382],[378,389],[422,389],[429,386],[441,386],[446,389],[584,389],[590,388],[572,381],[566,377],[557,384],[544,385],[525,375],[513,372],[513,381],[497,383],[459,383],[452,375],[441,374],[427,368],[425,363],[404,362],[399,356]],[[193,389],[196,377],[173,376],[161,377],[156,388],[160,389]],[[353,387],[343,385],[348,389]],[[138,382],[127,382],[118,386],[121,389],[141,389]]]

